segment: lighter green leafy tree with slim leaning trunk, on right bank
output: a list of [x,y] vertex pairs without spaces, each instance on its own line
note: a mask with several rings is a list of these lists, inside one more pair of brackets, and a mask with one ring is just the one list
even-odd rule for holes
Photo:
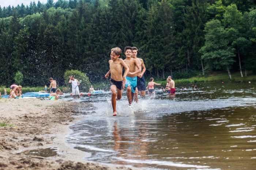
[[206,69],[226,69],[231,79],[230,68],[235,62],[235,49],[231,46],[230,37],[234,29],[225,29],[219,20],[206,23],[204,46],[199,50],[206,62]]

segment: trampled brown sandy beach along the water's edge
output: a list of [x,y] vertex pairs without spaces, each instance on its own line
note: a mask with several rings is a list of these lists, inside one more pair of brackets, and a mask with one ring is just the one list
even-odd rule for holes
[[[88,103],[40,99],[1,99],[0,122],[7,120],[13,127],[0,127],[1,169],[130,169],[87,162],[89,153],[69,147],[65,135],[68,125],[92,110]],[[40,157],[25,151],[57,147],[57,155]]]

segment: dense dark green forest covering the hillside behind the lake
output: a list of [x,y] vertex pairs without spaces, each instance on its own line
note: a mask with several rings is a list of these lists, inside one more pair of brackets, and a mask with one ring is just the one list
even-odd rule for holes
[[[48,0],[0,6],[0,85],[42,86],[79,70],[100,82],[113,47],[137,47],[164,79],[256,71],[256,0]],[[120,58],[125,58],[124,54]]]

